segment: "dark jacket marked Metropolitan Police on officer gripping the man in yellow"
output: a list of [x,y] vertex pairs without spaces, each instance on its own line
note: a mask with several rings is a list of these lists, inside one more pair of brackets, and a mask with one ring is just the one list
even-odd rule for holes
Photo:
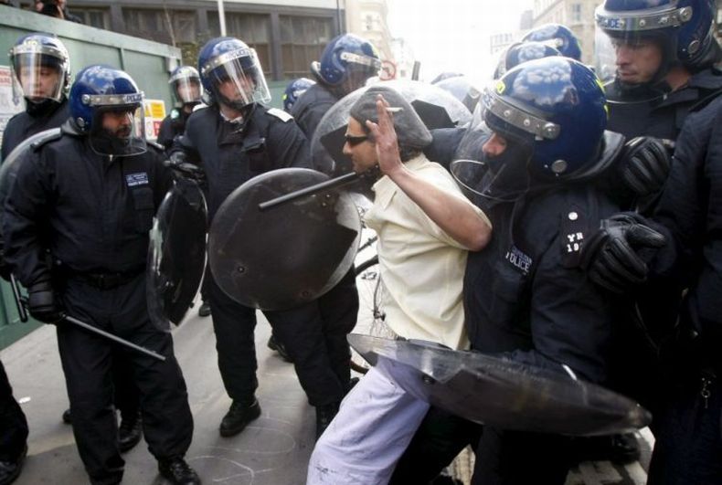
[[[585,238],[619,209],[588,183],[480,204],[490,244],[469,253],[463,301],[472,348],[592,382],[608,378],[619,314],[580,267]],[[621,309],[620,309],[621,312]]]

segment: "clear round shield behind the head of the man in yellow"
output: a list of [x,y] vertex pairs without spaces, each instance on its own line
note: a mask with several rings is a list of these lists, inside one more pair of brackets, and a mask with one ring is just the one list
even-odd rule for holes
[[[472,113],[462,101],[438,86],[405,79],[383,84],[398,90],[419,113],[419,118],[429,130],[463,126],[472,119]],[[352,171],[351,160],[344,154],[348,111],[367,89],[355,90],[338,100],[318,123],[311,140],[311,153],[316,167],[334,167],[334,175]]]

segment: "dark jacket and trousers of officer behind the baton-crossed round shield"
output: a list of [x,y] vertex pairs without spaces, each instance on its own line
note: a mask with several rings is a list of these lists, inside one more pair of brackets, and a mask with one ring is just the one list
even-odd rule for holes
[[[228,195],[255,175],[285,167],[309,168],[311,164],[308,142],[288,113],[257,103],[244,112],[243,121],[237,123],[226,121],[217,105],[197,110],[177,143],[203,165],[211,219]],[[208,296],[223,384],[234,401],[249,403],[258,387],[253,338],[256,311],[231,300],[213,279]],[[345,335],[350,328],[323,328],[315,301],[264,314],[290,353],[309,403],[325,406],[339,402],[349,379]]]

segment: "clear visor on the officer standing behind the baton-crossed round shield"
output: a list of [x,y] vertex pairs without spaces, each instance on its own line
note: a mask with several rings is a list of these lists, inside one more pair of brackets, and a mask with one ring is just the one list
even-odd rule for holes
[[234,107],[268,103],[271,92],[254,49],[239,49],[214,58],[204,68],[222,102]]

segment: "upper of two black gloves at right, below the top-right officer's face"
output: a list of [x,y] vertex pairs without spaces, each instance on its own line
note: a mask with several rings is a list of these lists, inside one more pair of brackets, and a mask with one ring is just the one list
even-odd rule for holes
[[638,136],[624,144],[621,179],[636,195],[658,192],[667,180],[672,157],[662,142],[651,136]]

